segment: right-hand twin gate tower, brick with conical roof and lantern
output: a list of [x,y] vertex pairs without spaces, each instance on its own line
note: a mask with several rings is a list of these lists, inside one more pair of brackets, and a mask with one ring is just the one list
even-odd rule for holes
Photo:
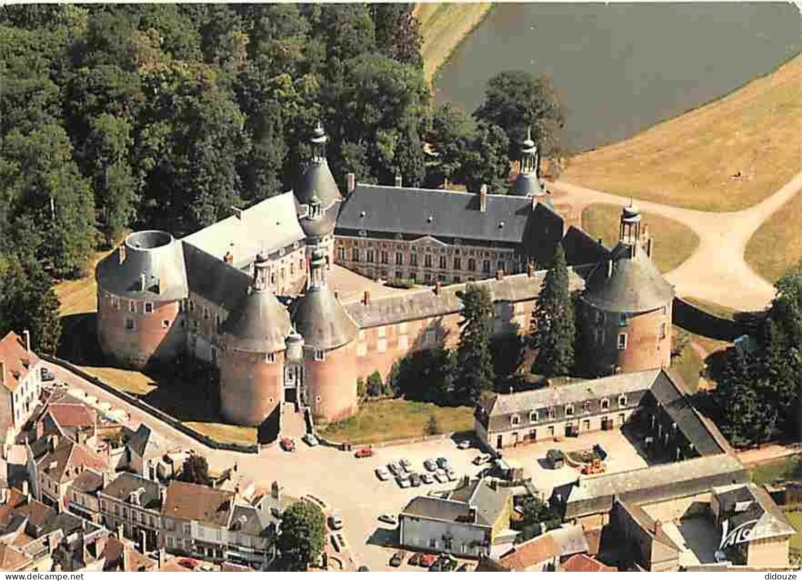
[[298,301],[293,322],[305,341],[306,402],[316,418],[334,421],[357,409],[358,326],[326,286],[326,256],[312,255],[309,288]]

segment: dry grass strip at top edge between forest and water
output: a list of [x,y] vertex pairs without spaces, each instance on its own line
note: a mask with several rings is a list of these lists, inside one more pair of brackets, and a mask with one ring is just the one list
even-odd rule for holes
[[471,31],[487,16],[492,4],[416,4],[415,18],[420,22],[423,36],[421,54],[423,74],[431,83],[437,69],[448,61],[448,57],[460,46]]

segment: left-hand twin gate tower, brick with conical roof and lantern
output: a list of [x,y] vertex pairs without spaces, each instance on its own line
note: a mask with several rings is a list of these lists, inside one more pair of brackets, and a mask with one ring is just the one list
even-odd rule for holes
[[253,283],[221,329],[220,411],[226,421],[258,426],[282,402],[290,313],[268,286],[268,261],[257,256]]

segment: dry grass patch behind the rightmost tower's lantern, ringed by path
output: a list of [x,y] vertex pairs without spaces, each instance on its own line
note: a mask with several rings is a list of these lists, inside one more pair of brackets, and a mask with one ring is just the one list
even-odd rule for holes
[[[621,207],[590,204],[582,211],[582,229],[593,238],[601,238],[608,248],[618,243]],[[643,212],[642,224],[654,235],[654,264],[660,272],[669,272],[683,264],[699,246],[699,236],[675,220]]]

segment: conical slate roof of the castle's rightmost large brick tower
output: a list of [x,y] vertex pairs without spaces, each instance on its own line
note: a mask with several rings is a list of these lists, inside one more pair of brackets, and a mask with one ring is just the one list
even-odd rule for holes
[[612,313],[646,313],[668,305],[674,299],[672,287],[636,244],[619,243],[612,252],[612,272],[608,261],[601,262],[585,281],[582,299],[597,309]]

